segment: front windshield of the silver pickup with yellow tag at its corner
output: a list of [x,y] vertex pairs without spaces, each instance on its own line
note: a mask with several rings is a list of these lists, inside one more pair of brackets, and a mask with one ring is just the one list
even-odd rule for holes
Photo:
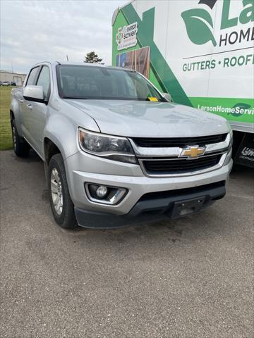
[[63,99],[164,101],[145,78],[131,70],[87,65],[58,65]]

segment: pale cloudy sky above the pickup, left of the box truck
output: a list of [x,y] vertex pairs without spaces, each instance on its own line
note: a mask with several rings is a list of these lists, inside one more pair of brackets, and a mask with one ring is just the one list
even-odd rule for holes
[[27,73],[47,60],[111,65],[111,18],[126,0],[0,0],[0,69]]

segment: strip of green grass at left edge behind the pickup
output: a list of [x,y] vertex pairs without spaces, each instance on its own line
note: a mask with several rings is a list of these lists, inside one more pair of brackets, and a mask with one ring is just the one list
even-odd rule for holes
[[13,149],[10,123],[12,87],[0,87],[0,150]]

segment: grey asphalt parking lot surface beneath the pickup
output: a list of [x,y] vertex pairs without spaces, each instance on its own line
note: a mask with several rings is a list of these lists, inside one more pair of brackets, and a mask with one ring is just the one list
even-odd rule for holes
[[2,338],[248,338],[252,170],[181,220],[61,230],[37,156],[1,151]]

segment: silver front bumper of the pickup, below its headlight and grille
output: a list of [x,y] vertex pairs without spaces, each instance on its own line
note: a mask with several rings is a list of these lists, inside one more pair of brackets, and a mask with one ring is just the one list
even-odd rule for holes
[[[71,199],[75,205],[78,223],[87,226],[87,217],[84,217],[84,213],[89,213],[89,221],[91,221],[92,218],[95,219],[95,223],[93,223],[92,227],[97,227],[96,224],[99,224],[98,215],[103,215],[104,219],[104,215],[125,215],[128,217],[131,217],[132,215],[133,217],[137,217],[140,213],[143,213],[143,209],[150,210],[152,206],[157,206],[158,208],[162,207],[163,209],[166,208],[166,206],[168,207],[170,203],[179,200],[171,199],[169,196],[168,199],[164,199],[162,205],[158,206],[157,203],[159,199],[157,199],[157,197],[155,199],[150,199],[150,201],[143,201],[143,196],[146,194],[172,192],[171,195],[175,196],[175,193],[177,194],[181,189],[191,188],[188,192],[188,196],[181,196],[181,199],[188,199],[189,197],[193,198],[192,194],[195,194],[196,187],[226,181],[231,171],[232,161],[219,169],[199,175],[156,178],[144,176],[139,165],[114,162],[96,158],[95,156],[87,156],[87,154],[84,155],[80,152],[67,158],[65,165],[68,187]],[[102,165],[105,174],[99,173]],[[77,168],[79,168],[79,170],[77,170]],[[84,171],[80,170],[80,168]],[[87,198],[87,194],[85,193],[85,182],[123,187],[128,189],[128,194],[126,194],[124,199],[117,205],[109,206],[99,204],[92,202]],[[218,196],[224,196],[224,189],[225,188],[223,187],[223,189],[220,190]],[[213,192],[207,192],[206,196],[210,197],[207,198],[207,203],[205,203],[204,206],[210,204],[208,201],[211,201],[212,203],[215,195]],[[159,214],[164,215],[165,213],[161,212]],[[93,217],[91,217],[92,215]]]

